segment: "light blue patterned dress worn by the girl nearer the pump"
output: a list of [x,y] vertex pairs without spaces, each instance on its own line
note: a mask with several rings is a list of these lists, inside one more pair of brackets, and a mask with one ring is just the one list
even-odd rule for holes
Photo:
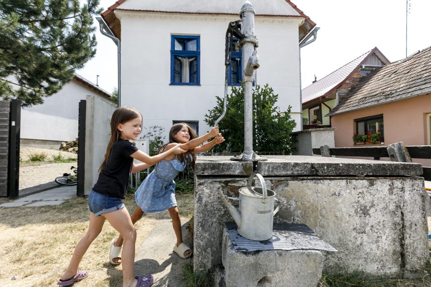
[[156,164],[136,190],[135,199],[140,209],[144,212],[157,212],[177,206],[174,178],[185,168],[186,164],[177,157]]

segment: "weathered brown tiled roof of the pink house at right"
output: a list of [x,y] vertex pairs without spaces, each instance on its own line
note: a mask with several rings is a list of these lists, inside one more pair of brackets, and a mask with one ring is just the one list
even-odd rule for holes
[[431,93],[431,47],[362,78],[329,115]]

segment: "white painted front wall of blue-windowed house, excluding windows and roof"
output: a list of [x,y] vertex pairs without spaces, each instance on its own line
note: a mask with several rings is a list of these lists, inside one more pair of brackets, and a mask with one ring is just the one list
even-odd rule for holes
[[[165,128],[166,135],[173,120],[199,121],[199,133],[208,131],[204,115],[215,106],[216,96],[223,97],[224,93],[226,29],[239,16],[128,11],[115,14],[121,20],[121,103],[142,113],[145,128],[159,125]],[[291,105],[298,123],[302,109],[298,27],[303,20],[255,19],[260,61],[257,83],[268,83],[278,93],[280,109]],[[169,85],[171,35],[200,36],[200,86]],[[300,128],[299,124],[296,130]]]

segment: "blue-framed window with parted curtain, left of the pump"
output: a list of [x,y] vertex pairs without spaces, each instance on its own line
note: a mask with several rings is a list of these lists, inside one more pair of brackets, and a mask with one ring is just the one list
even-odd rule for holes
[[171,85],[200,85],[199,36],[171,36]]

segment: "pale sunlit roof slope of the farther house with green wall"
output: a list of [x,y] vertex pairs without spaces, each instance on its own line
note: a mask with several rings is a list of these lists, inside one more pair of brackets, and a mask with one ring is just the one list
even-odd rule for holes
[[[332,72],[328,76],[311,84],[307,88],[304,88],[302,90],[303,104],[319,97],[325,97],[330,94],[335,88],[343,84],[343,82],[347,80],[347,78],[361,66],[361,64],[367,59],[368,56],[372,55],[376,51],[378,51],[377,48],[368,51],[367,53],[353,60],[352,62],[344,65],[340,69]],[[379,54],[381,54],[380,51],[378,52]],[[385,60],[387,59],[385,58]]]

